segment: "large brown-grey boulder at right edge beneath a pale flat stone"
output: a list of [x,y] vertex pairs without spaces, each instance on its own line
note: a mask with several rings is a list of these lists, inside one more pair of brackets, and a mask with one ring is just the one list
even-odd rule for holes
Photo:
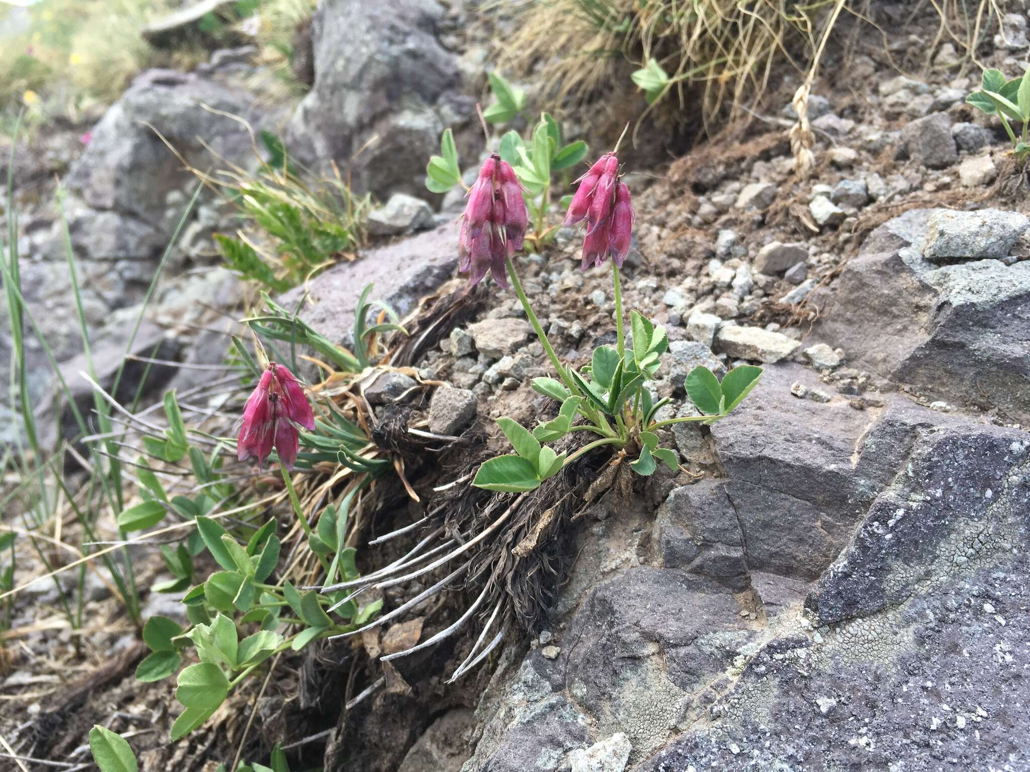
[[812,294],[814,335],[856,366],[1025,422],[1030,261],[932,262],[921,250],[933,214],[905,212],[870,234],[839,278]]

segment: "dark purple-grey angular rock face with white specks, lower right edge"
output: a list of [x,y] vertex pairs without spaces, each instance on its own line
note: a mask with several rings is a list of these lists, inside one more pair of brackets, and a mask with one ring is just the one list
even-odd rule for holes
[[925,435],[805,607],[820,625],[868,617],[1010,554],[1030,529],[1028,462],[1030,441],[1016,429],[961,423]]

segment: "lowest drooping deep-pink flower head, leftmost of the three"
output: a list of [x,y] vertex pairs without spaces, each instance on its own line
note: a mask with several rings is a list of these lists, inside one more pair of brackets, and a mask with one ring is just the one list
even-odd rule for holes
[[304,387],[286,366],[269,362],[243,408],[236,457],[256,457],[264,466],[274,447],[283,465],[293,469],[300,448],[298,426],[309,431],[315,427]]

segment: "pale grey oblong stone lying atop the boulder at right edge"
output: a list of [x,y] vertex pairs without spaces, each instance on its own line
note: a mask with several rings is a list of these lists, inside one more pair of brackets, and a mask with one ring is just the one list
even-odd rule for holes
[[1012,245],[1028,227],[1030,218],[1019,212],[939,209],[927,220],[923,256],[929,260],[1007,257]]

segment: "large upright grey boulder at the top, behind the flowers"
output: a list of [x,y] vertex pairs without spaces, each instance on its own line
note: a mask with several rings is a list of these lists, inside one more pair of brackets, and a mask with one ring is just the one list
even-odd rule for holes
[[437,38],[442,15],[436,0],[322,2],[311,27],[314,87],[290,120],[290,151],[311,166],[335,160],[383,200],[424,196],[444,129],[437,103],[459,79]]

